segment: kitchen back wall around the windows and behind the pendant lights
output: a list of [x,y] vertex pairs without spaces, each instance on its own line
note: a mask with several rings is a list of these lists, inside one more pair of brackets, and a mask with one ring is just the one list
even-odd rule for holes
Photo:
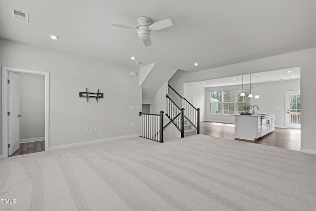
[[[249,84],[245,84],[243,87],[249,88]],[[252,93],[255,95],[256,86],[253,86],[253,88],[255,89],[252,89]],[[210,114],[210,91],[230,89],[241,89],[241,87],[239,85],[232,85],[205,88],[206,121],[235,123],[234,116]],[[285,127],[285,91],[290,90],[300,90],[300,79],[258,83],[258,94],[260,98],[250,98],[250,104],[259,107],[259,111],[255,108],[256,113],[275,113],[276,127]],[[280,107],[280,109],[276,109],[276,107]],[[252,110],[250,112],[252,112]]]

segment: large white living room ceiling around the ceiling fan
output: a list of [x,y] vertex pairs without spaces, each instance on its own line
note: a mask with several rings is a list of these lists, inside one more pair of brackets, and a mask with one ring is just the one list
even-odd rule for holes
[[[29,13],[29,23],[12,19],[11,7]],[[315,11],[316,0],[0,0],[0,37],[194,72],[315,47]],[[136,31],[111,26],[136,26],[139,16],[173,26],[152,32],[149,47]]]

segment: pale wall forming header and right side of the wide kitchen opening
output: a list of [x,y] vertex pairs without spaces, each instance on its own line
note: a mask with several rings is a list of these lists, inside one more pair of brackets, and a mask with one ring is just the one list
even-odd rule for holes
[[242,62],[209,70],[188,73],[177,71],[169,80],[177,91],[182,92],[184,83],[259,73],[290,67],[301,67],[301,151],[316,154],[315,119],[316,98],[316,48],[295,51],[277,56]]

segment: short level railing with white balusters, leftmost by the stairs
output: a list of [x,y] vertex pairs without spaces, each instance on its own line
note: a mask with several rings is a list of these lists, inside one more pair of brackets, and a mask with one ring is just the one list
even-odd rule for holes
[[141,137],[163,142],[163,111],[160,114],[143,114],[141,120]]

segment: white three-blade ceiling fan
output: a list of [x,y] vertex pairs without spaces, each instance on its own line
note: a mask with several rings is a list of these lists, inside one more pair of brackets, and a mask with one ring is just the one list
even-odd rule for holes
[[125,29],[133,29],[133,30],[137,29],[138,37],[141,40],[143,40],[145,46],[147,47],[152,44],[152,41],[150,39],[151,31],[157,31],[157,30],[164,29],[173,25],[173,23],[171,22],[169,18],[163,19],[161,21],[157,21],[152,24],[152,20],[149,17],[142,16],[142,17],[137,18],[136,22],[137,22],[136,28],[131,27],[131,26],[115,24],[115,23],[112,23],[111,26],[121,27]]

